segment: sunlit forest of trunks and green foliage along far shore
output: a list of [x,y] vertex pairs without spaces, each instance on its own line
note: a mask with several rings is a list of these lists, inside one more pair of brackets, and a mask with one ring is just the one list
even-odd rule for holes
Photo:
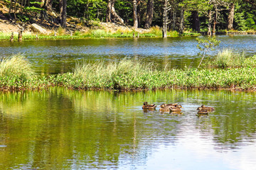
[[[67,17],[113,22],[134,28],[160,26],[183,33],[222,30],[256,30],[255,0],[4,0],[14,21],[33,23],[35,18],[59,23]],[[50,12],[58,13],[55,18]]]

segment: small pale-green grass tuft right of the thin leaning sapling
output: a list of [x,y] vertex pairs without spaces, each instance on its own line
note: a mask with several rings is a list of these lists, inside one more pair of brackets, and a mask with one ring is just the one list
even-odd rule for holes
[[210,64],[219,68],[242,67],[245,62],[245,52],[235,53],[231,49],[224,49],[218,52]]

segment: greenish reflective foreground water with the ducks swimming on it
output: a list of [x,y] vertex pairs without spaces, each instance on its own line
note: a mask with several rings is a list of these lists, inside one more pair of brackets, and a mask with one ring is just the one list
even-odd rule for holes
[[[183,114],[142,111],[181,103]],[[256,169],[256,95],[0,92],[0,169]],[[204,103],[215,107],[198,117]]]

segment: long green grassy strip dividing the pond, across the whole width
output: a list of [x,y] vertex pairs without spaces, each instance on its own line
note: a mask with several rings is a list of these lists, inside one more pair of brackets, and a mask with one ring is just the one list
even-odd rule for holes
[[243,67],[225,69],[162,70],[139,60],[77,64],[73,72],[39,77],[22,55],[0,63],[0,89],[45,89],[65,86],[87,90],[135,89],[239,89],[255,90],[256,57],[245,59]]

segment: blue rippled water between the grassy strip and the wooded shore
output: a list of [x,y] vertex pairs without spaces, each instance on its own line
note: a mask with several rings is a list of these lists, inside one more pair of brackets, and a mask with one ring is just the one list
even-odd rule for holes
[[[233,48],[236,52],[256,54],[256,35],[221,35],[220,46]],[[76,62],[85,60],[118,60],[139,58],[156,62],[161,67],[174,68],[198,66],[200,57],[196,38],[98,38],[85,40],[23,40],[23,42],[0,41],[1,57],[18,52],[28,57],[41,74],[70,72]],[[215,55],[217,52],[210,52]]]

